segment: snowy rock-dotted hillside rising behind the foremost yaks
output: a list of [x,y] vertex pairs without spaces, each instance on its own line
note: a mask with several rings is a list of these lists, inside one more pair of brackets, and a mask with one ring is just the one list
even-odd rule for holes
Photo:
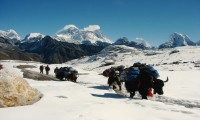
[[[162,50],[138,50],[132,47],[115,45],[106,47],[97,55],[75,59],[66,64],[75,65],[84,70],[94,70],[99,73],[111,66],[124,65],[129,67],[135,62],[151,64],[162,71],[186,71],[200,69],[198,67],[199,56],[200,47],[196,46]],[[106,60],[114,60],[115,64],[105,66]]]

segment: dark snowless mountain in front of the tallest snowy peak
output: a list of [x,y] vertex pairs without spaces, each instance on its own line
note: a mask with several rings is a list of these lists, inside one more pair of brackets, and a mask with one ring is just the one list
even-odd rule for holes
[[21,43],[19,48],[23,51],[42,56],[42,62],[63,63],[72,59],[96,54],[104,46],[73,44],[57,41],[50,36],[45,36],[40,41]]

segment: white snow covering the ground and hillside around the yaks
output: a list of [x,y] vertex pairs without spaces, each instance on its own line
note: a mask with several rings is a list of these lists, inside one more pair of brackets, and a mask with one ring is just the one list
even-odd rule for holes
[[[63,64],[51,64],[50,75],[54,75],[55,67],[72,66],[77,69],[80,73],[78,83],[26,79],[43,97],[32,105],[0,108],[1,120],[199,120],[200,70],[190,61],[200,60],[200,47],[176,48],[180,52],[171,55],[169,53],[174,49],[149,51],[149,54],[156,53],[152,56],[145,56],[147,51],[125,46],[118,46],[117,49],[118,52],[114,50],[118,55],[116,65],[130,66],[135,61],[161,64],[182,60],[188,63],[155,66],[160,79],[165,80],[168,76],[169,81],[164,86],[164,95],[154,95],[148,100],[141,100],[139,94],[136,94],[135,99],[122,97],[108,88],[107,78],[99,73],[110,66],[99,65],[113,51],[104,51],[98,56],[83,57]],[[125,57],[120,59],[122,55]],[[22,77],[21,70],[13,66],[34,65],[37,68],[29,70],[39,72],[42,63],[7,60],[0,61],[0,64],[14,75]]]

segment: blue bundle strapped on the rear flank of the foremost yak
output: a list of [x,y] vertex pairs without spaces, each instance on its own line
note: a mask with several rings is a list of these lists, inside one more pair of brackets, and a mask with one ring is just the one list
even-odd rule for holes
[[140,74],[140,69],[138,67],[130,67],[128,69],[127,81],[136,80]]

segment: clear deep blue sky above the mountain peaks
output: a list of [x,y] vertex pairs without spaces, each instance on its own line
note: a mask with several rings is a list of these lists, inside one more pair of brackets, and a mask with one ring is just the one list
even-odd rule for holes
[[0,0],[0,29],[54,35],[65,25],[99,25],[116,41],[143,38],[152,45],[173,32],[200,40],[200,0]]

